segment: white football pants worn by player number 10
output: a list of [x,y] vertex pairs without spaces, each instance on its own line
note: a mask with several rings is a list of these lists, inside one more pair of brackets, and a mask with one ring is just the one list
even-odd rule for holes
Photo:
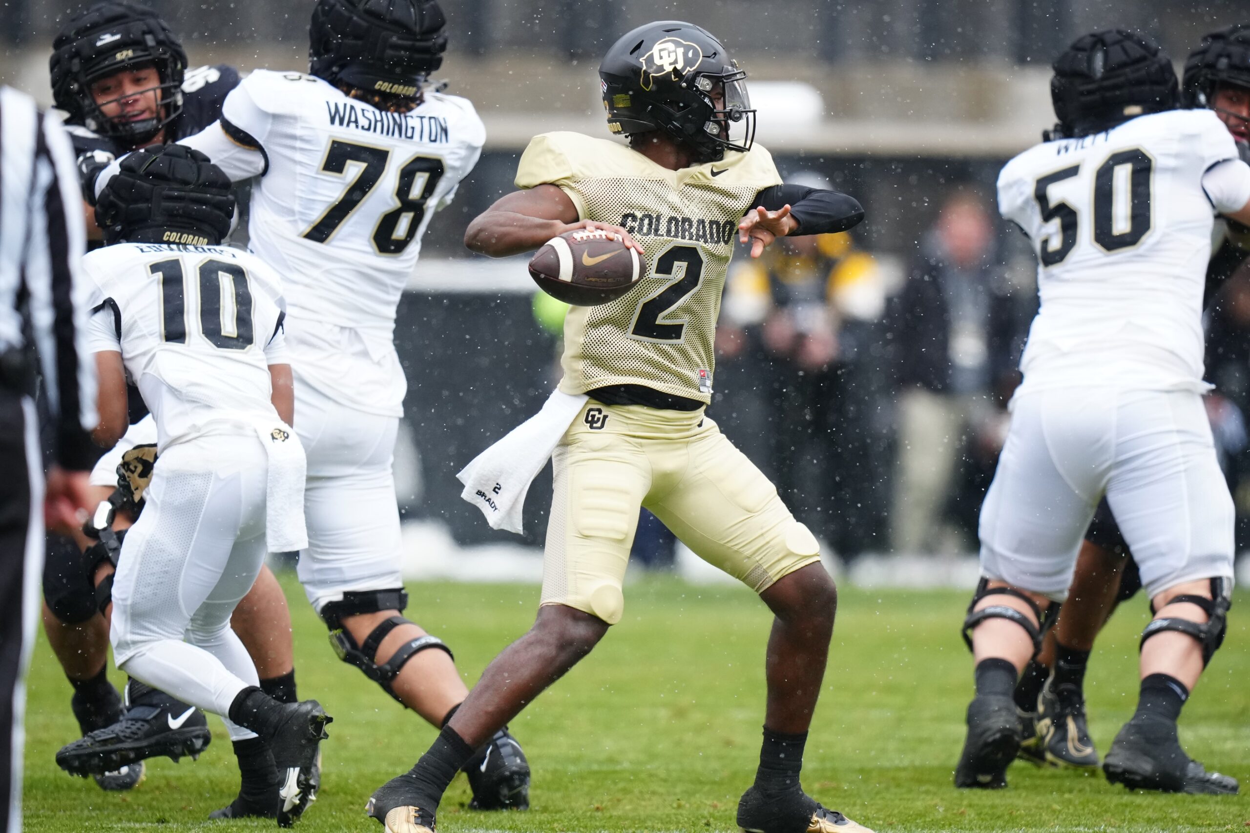
[[[161,452],[112,584],[118,667],[222,718],[259,682],[230,616],[265,562],[266,470],[255,435]],[[231,741],[255,737],[225,722]]]

